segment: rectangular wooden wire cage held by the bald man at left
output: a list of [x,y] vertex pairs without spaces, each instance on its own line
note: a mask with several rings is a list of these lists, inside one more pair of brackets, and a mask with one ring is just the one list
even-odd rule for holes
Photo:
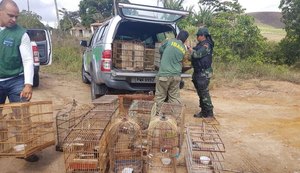
[[51,101],[0,105],[0,156],[26,158],[55,144]]

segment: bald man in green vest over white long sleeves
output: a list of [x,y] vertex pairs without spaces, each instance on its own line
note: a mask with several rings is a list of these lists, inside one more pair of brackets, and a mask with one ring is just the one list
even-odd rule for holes
[[12,0],[0,2],[0,104],[32,97],[33,56],[26,30],[16,24],[19,8]]

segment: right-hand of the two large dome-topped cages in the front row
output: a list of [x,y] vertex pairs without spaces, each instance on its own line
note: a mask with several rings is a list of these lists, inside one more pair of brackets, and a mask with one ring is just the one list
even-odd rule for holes
[[148,169],[154,172],[176,172],[179,156],[177,122],[165,116],[155,116],[148,128]]

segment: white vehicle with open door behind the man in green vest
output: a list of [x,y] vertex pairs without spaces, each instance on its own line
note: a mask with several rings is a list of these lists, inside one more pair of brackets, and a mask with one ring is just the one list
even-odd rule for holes
[[49,31],[45,29],[27,29],[29,35],[34,62],[33,87],[40,84],[40,65],[50,65],[52,63],[52,43]]

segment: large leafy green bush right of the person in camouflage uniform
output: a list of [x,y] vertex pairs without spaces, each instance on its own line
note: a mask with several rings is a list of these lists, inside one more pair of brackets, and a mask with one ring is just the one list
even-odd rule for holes
[[214,17],[210,31],[215,39],[217,59],[264,62],[266,42],[251,16],[219,13]]

